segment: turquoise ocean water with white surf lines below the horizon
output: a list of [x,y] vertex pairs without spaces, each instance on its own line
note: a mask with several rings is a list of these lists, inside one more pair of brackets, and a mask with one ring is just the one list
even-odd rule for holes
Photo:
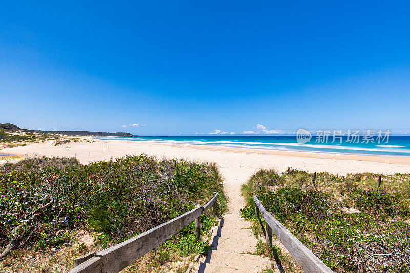
[[410,136],[389,136],[388,142],[378,143],[376,137],[374,143],[362,142],[349,143],[347,138],[332,142],[329,138],[327,143],[316,143],[315,136],[306,144],[298,144],[295,135],[252,135],[252,136],[147,136],[147,137],[109,137],[104,139],[145,141],[160,143],[192,144],[192,145],[217,145],[241,148],[271,149],[282,151],[304,151],[321,153],[365,154],[365,155],[389,155],[410,156]]

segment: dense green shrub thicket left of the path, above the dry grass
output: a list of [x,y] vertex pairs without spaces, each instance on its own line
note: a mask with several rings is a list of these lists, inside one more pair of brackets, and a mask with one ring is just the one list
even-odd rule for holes
[[[46,157],[4,164],[0,166],[0,246],[22,224],[20,247],[60,244],[67,240],[68,230],[91,228],[101,233],[98,241],[106,248],[186,213],[219,192],[214,209],[201,216],[205,233],[215,224],[212,212],[221,214],[226,208],[221,181],[216,165],[159,161],[146,155],[89,165],[75,158]],[[192,235],[193,224],[181,233]]]

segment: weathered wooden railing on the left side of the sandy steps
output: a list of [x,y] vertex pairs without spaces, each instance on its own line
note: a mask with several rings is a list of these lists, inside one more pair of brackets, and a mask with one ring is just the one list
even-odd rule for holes
[[217,199],[218,193],[214,193],[211,200],[204,206],[197,206],[185,214],[98,253],[89,253],[78,257],[74,261],[74,264],[78,265],[69,273],[117,273],[171,238],[194,220],[195,233],[197,238],[200,238],[200,216],[211,208]]

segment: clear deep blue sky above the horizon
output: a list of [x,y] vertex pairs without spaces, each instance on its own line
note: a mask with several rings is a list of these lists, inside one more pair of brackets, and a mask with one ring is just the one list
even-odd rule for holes
[[409,9],[406,1],[4,2],[0,122],[140,135],[410,133]]

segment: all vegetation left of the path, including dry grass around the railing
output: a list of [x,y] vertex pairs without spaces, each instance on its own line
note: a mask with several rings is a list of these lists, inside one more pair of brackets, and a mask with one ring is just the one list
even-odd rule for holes
[[[171,220],[204,204],[213,192],[220,195],[215,209],[201,216],[202,234],[209,232],[215,216],[226,209],[215,164],[158,160],[143,154],[89,165],[75,158],[54,157],[3,164],[0,257],[4,261],[0,270],[67,271],[76,256],[107,248]],[[196,240],[194,233],[191,223],[141,258],[144,262],[126,270],[155,272],[179,258],[186,261],[193,254],[205,254],[208,244]],[[84,235],[92,238],[92,246],[84,243]],[[49,263],[21,263],[33,253],[59,256],[53,260],[53,255],[48,255]]]

